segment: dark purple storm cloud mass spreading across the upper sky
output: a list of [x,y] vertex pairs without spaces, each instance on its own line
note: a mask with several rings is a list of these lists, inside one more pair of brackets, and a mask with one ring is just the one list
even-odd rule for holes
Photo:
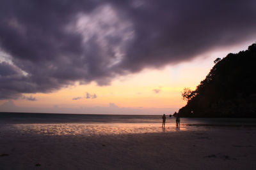
[[0,2],[0,99],[191,59],[255,36],[255,1]]

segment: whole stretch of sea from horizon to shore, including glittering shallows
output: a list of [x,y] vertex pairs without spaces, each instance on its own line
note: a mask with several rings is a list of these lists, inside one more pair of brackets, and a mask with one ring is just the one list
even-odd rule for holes
[[211,131],[218,128],[256,127],[256,118],[175,118],[162,115],[77,115],[50,113],[0,113],[0,132],[43,135],[102,135],[154,132]]

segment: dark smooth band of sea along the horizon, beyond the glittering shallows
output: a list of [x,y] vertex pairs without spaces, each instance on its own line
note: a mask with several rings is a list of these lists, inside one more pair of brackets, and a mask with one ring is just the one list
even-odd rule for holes
[[[122,123],[160,124],[162,115],[117,115],[88,113],[25,113],[0,112],[0,123],[5,124],[51,124],[51,123]],[[175,117],[166,115],[167,123],[175,123]],[[181,118],[182,125],[255,125],[256,118]]]

